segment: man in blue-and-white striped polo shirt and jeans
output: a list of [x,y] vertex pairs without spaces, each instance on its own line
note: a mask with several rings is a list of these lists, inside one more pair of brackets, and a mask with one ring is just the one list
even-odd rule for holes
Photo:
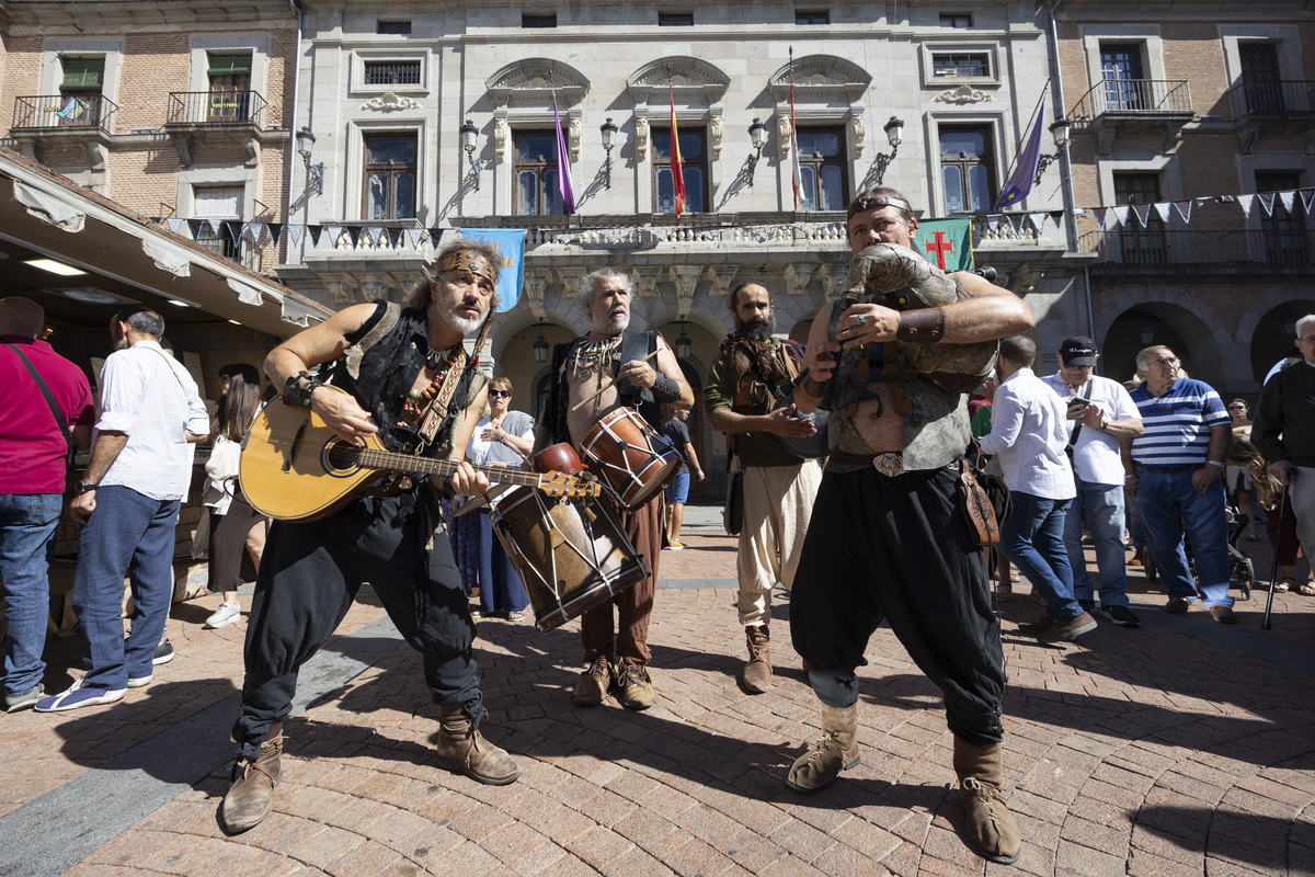
[[1124,489],[1137,504],[1151,554],[1169,589],[1165,611],[1181,615],[1197,598],[1182,536],[1197,560],[1202,605],[1223,625],[1237,618],[1228,596],[1227,493],[1220,476],[1232,438],[1223,400],[1208,384],[1178,376],[1178,358],[1164,346],[1137,354],[1144,379],[1134,389],[1144,430],[1122,439]]

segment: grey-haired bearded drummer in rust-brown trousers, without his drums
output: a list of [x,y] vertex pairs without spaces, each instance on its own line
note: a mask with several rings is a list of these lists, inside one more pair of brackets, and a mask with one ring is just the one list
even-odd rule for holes
[[[542,450],[556,442],[571,442],[576,448],[584,448],[597,435],[597,427],[609,417],[614,421],[615,413],[629,406],[638,410],[651,427],[650,438],[669,451],[658,435],[661,405],[685,410],[694,404],[694,393],[685,383],[676,354],[656,331],[627,331],[631,298],[627,276],[610,268],[594,271],[580,281],[580,297],[593,329],[554,351],[555,377],[546,410],[539,418],[535,448]],[[615,384],[609,385],[611,381]],[[600,394],[589,398],[600,389]],[[667,473],[669,467],[654,468]],[[659,477],[658,484],[646,486],[646,493],[652,489],[650,498],[621,514],[626,536],[650,567],[648,577],[581,615],[580,639],[589,667],[576,684],[572,698],[583,706],[601,703],[613,689],[622,706],[634,710],[652,706],[647,639],[661,551],[660,486]],[[615,643],[613,605],[619,614]]]

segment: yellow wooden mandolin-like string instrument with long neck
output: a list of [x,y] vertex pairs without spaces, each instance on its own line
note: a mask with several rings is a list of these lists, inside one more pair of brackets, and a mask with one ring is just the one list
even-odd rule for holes
[[[242,439],[238,480],[247,502],[260,514],[276,521],[318,521],[370,493],[391,472],[447,477],[458,465],[459,460],[389,451],[377,435],[346,442],[318,414],[272,401]],[[475,471],[493,483],[530,486],[555,497],[596,497],[601,492],[589,475],[498,465],[476,465]]]

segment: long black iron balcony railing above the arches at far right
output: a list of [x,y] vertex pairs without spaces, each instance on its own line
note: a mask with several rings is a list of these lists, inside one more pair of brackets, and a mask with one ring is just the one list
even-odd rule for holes
[[[1130,217],[1130,222],[1135,220]],[[1166,231],[1124,226],[1089,231],[1081,249],[1110,264],[1282,264],[1315,262],[1315,234],[1304,229],[1232,231]]]

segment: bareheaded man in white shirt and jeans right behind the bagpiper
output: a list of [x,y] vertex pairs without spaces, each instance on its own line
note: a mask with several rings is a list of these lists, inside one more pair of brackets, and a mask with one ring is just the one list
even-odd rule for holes
[[1043,643],[1072,642],[1095,630],[1095,618],[1073,598],[1073,571],[1064,547],[1064,515],[1077,494],[1064,452],[1064,404],[1032,373],[1035,360],[1031,338],[1011,335],[999,342],[995,369],[1003,380],[981,448],[999,458],[1014,501],[999,529],[999,551],[1045,598],[1045,618],[1019,630]]

